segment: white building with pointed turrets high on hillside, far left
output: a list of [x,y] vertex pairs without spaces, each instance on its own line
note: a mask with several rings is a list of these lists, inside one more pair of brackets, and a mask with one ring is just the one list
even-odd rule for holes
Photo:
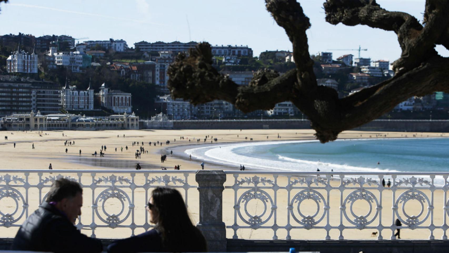
[[37,73],[37,54],[15,51],[6,59],[6,71],[20,73]]

